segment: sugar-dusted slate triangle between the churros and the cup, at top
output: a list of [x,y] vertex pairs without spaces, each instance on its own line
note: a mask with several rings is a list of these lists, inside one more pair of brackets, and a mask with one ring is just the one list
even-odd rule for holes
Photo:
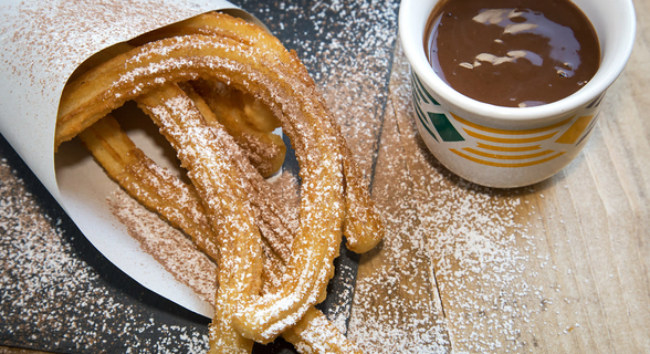
[[[277,17],[269,15],[277,6]],[[333,111],[356,160],[370,179],[397,35],[397,2],[318,1],[311,7],[247,4],[296,50]],[[256,12],[254,7],[260,7]],[[303,25],[297,25],[302,23]],[[304,23],[308,23],[306,27]]]

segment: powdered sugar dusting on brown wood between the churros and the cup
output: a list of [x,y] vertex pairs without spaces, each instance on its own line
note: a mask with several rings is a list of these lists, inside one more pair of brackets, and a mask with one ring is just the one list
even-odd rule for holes
[[[374,190],[387,218],[377,254],[386,260],[376,274],[357,280],[355,311],[360,314],[353,316],[350,332],[381,353],[532,351],[538,334],[528,323],[539,322],[557,290],[542,285],[547,282],[538,278],[549,254],[538,248],[543,237],[522,221],[530,219],[527,196],[535,190],[482,188],[440,166],[415,127],[409,77],[397,50],[391,104],[398,116],[387,118],[382,132],[382,147],[394,152],[385,154]],[[422,279],[430,279],[432,305],[426,302],[427,284],[418,285]],[[409,310],[400,311],[403,306]],[[365,312],[378,319],[368,324]],[[438,316],[429,329],[439,333],[411,336],[417,326],[405,322],[417,324],[428,312]],[[386,336],[399,350],[386,348]]]

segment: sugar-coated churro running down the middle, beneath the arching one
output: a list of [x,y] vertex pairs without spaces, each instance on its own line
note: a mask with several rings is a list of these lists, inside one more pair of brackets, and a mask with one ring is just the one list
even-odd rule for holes
[[203,201],[219,249],[219,288],[210,325],[214,353],[250,353],[252,341],[232,326],[240,308],[259,295],[262,246],[237,166],[219,146],[201,113],[176,84],[136,97],[160,127]]

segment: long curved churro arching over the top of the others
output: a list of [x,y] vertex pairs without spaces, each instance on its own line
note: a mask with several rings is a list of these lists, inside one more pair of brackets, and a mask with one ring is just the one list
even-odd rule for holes
[[[96,122],[107,110],[141,92],[151,92],[160,82],[159,77],[167,82],[198,76],[229,80],[232,85],[248,88],[283,112],[283,129],[294,142],[302,166],[303,228],[293,242],[286,287],[274,298],[256,301],[235,320],[235,326],[245,336],[269,342],[300,320],[325,294],[340,242],[343,175],[342,156],[332,126],[312,110],[315,93],[283,80],[285,75],[274,62],[259,58],[252,61],[254,52],[228,39],[189,35],[145,44],[128,52],[127,56],[118,55],[118,63],[108,61],[69,85],[62,97],[57,137],[59,140],[70,137],[74,131]],[[88,81],[91,76],[93,81]],[[186,164],[188,169],[192,168],[191,160]],[[199,186],[196,187],[201,194]],[[304,271],[306,269],[310,271]],[[290,305],[281,305],[283,300],[289,300]],[[263,309],[266,311],[261,312]],[[266,315],[260,316],[260,313]]]

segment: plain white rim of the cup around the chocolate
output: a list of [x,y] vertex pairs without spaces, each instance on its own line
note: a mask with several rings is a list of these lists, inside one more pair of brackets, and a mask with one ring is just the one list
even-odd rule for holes
[[[545,105],[534,107],[504,107],[470,98],[453,90],[438,76],[427,60],[423,46],[424,33],[412,33],[412,13],[421,6],[421,0],[402,0],[398,14],[398,31],[403,52],[411,65],[411,70],[429,87],[436,87],[436,93],[450,105],[466,112],[497,122],[530,122],[557,117],[587,104],[600,96],[616,81],[631,55],[636,37],[636,14],[632,0],[620,1],[620,10],[629,21],[625,22],[623,38],[618,38],[619,48],[616,60],[606,71],[598,70],[594,79],[574,94]],[[429,12],[429,11],[428,11]],[[429,17],[430,13],[427,13]],[[426,29],[424,29],[426,30]]]

